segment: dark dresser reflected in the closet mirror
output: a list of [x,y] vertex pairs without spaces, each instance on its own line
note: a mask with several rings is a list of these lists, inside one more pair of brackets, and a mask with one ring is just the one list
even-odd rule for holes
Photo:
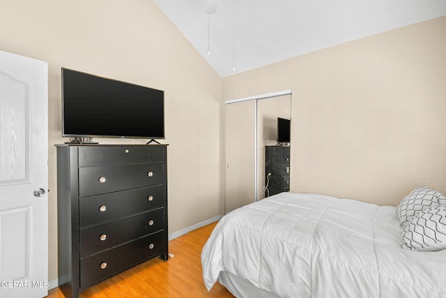
[[[268,177],[268,173],[271,173],[270,177]],[[290,191],[289,146],[265,146],[266,184],[268,184],[269,195]],[[265,191],[265,196],[268,196],[268,191]]]

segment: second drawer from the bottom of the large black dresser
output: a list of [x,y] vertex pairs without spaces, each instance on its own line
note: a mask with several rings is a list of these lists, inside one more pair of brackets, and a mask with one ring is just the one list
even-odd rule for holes
[[163,219],[164,208],[160,208],[82,228],[79,230],[79,255],[85,258],[93,253],[163,230]]

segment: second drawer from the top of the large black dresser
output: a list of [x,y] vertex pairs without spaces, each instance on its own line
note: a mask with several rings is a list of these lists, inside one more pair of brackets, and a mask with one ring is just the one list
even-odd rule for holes
[[162,184],[163,163],[79,167],[79,197]]

